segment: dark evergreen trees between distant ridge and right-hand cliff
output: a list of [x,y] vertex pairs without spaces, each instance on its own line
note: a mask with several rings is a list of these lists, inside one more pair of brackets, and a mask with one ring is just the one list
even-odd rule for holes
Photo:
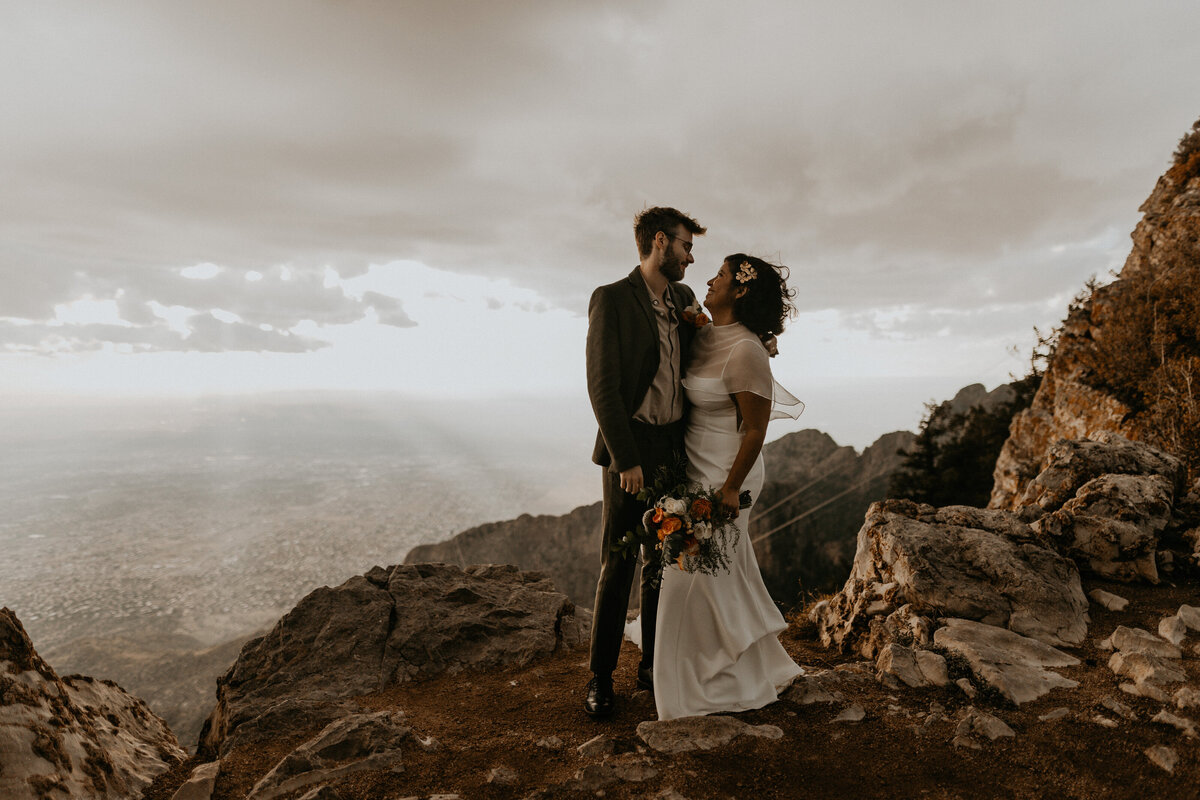
[[[1039,333],[1038,338],[1040,344],[1052,343],[1052,337]],[[1009,384],[1016,391],[1009,403],[966,413],[955,413],[949,403],[928,403],[912,449],[888,481],[888,497],[934,506],[986,506],[1008,426],[1030,407],[1040,384],[1042,372],[1034,363],[1028,375]]]

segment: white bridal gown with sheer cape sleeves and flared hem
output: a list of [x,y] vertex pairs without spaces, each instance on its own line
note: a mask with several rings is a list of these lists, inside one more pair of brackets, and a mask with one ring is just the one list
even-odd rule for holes
[[[684,389],[691,403],[684,446],[688,477],[719,488],[742,444],[732,392],[773,399],[773,417],[798,416],[803,404],[770,377],[767,349],[740,324],[697,331]],[[762,456],[742,485],[762,489]],[[779,643],[787,627],[758,572],[742,509],[730,572],[708,576],[667,565],[659,595],[654,702],[660,720],[745,711],[775,702],[803,670]]]

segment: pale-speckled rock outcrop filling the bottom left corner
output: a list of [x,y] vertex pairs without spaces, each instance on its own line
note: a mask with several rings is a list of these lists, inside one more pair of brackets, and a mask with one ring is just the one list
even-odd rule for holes
[[134,798],[186,753],[140,699],[110,681],[59,678],[0,609],[0,796]]

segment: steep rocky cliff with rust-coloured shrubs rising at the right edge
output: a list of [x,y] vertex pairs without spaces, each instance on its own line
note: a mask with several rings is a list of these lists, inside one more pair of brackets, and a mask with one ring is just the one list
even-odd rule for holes
[[[1193,130],[1181,143],[1175,164],[1141,205],[1144,216],[1133,231],[1133,249],[1117,279],[1070,307],[1033,403],[1013,420],[1009,438],[996,461],[991,507],[1020,505],[1027,483],[1042,471],[1055,443],[1063,439],[1092,439],[1110,432],[1159,444],[1180,456],[1196,457],[1186,452],[1194,450],[1198,427],[1198,405],[1194,399],[1189,402],[1194,389],[1188,389],[1194,387],[1195,348],[1168,354],[1166,343],[1157,343],[1160,349],[1153,351],[1156,343],[1140,327],[1153,331],[1166,319],[1165,309],[1156,320],[1156,309],[1144,307],[1146,287],[1156,282],[1165,285],[1163,279],[1166,279],[1186,288],[1189,295],[1196,290],[1198,140],[1200,134]],[[1184,303],[1190,302],[1190,296],[1184,299]],[[1130,324],[1139,318],[1139,330],[1133,330]],[[1190,325],[1194,344],[1194,321]],[[1102,362],[1115,363],[1127,356],[1130,365],[1144,365],[1146,374],[1126,374],[1122,380],[1098,374],[1097,366]],[[1112,383],[1129,385],[1115,387]],[[1159,396],[1142,396],[1144,390]],[[1195,463],[1192,468],[1195,469]]]

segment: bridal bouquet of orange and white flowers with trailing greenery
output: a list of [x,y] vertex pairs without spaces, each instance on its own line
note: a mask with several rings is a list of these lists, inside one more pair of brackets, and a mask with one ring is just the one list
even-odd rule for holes
[[[718,575],[730,570],[730,551],[738,541],[738,528],[720,501],[720,492],[704,488],[695,481],[679,477],[682,470],[662,468],[659,479],[637,495],[654,504],[642,516],[637,530],[625,534],[614,549],[626,554],[637,552],[640,545],[658,551],[652,564],[642,570],[654,570],[653,583],[662,581],[662,570],[674,564],[685,572]],[[738,501],[750,506],[750,493],[743,492]]]

